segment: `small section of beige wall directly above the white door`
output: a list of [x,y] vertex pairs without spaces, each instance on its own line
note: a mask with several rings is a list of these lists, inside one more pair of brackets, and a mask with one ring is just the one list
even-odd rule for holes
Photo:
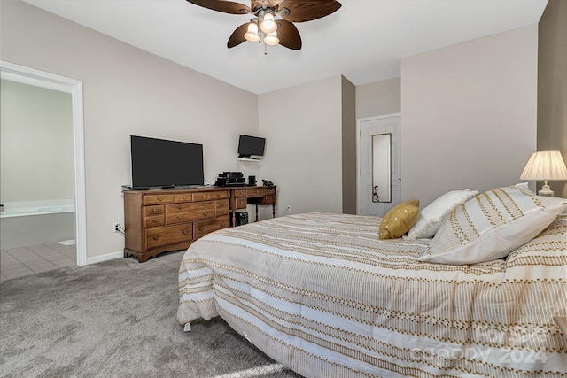
[[401,112],[400,78],[356,87],[356,118]]

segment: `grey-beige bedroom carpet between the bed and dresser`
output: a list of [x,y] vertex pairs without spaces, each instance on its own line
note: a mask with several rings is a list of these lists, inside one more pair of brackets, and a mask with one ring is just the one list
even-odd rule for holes
[[2,377],[299,377],[221,320],[177,323],[182,252],[0,284]]

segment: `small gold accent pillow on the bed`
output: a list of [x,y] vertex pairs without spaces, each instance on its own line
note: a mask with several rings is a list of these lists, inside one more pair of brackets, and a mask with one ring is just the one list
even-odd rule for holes
[[408,232],[419,215],[419,200],[396,204],[380,221],[378,237],[380,239],[396,239]]

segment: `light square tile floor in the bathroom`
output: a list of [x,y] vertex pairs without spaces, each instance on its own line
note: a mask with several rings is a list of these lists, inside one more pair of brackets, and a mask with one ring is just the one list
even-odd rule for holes
[[75,245],[53,242],[9,248],[0,251],[0,282],[76,265]]

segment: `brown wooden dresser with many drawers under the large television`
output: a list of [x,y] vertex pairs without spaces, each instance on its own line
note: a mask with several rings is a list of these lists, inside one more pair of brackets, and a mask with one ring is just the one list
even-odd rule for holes
[[229,197],[226,188],[125,191],[124,257],[142,263],[228,228]]

